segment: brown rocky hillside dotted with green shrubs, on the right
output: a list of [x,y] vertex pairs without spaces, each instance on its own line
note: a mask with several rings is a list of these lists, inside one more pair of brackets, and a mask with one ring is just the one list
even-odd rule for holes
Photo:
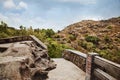
[[120,63],[120,17],[108,20],[83,20],[67,26],[54,38],[81,52],[97,52]]

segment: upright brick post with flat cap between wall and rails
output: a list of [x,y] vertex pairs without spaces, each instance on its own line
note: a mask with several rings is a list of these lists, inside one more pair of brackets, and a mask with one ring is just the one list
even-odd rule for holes
[[93,80],[92,73],[93,73],[93,59],[94,56],[98,56],[97,53],[89,53],[86,59],[86,78],[85,80]]

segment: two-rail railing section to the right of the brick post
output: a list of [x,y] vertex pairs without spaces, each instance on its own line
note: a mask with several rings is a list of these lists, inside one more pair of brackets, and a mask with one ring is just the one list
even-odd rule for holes
[[100,80],[120,80],[120,65],[95,56],[94,76]]

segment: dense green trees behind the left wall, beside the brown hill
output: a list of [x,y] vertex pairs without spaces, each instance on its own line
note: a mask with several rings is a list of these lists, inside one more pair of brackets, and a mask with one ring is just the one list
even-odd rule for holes
[[33,29],[32,26],[27,29],[22,25],[19,28],[20,29],[9,27],[2,21],[0,24],[0,38],[35,35],[48,46],[49,55],[54,58],[61,57],[62,51],[69,48],[65,44],[60,44],[52,38],[55,35],[52,29]]

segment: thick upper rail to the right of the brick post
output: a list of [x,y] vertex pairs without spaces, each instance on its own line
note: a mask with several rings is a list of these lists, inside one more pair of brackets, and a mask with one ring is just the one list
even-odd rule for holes
[[116,79],[120,79],[120,65],[109,61],[107,59],[95,56],[94,64],[98,66],[101,70],[113,76]]

